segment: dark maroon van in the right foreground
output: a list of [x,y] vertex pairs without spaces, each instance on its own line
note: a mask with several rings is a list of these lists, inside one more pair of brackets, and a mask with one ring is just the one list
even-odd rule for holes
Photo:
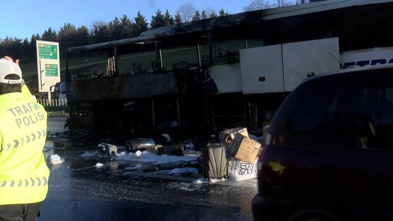
[[275,115],[255,220],[393,220],[393,66],[315,76]]

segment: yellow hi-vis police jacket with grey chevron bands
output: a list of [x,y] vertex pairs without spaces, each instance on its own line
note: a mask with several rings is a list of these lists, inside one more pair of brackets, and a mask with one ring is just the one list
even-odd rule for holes
[[40,104],[24,99],[20,92],[0,95],[0,205],[45,199],[46,117]]

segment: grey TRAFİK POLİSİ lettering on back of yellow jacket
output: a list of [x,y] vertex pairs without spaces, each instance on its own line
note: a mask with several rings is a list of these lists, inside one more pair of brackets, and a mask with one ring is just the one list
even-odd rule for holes
[[34,102],[30,102],[27,105],[15,106],[7,109],[7,111],[15,117],[15,123],[19,129],[45,119],[42,108]]

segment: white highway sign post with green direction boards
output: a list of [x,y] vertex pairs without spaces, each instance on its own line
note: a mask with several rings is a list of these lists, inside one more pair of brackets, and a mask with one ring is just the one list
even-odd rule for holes
[[48,92],[51,103],[51,87],[60,82],[59,42],[37,41],[38,90]]

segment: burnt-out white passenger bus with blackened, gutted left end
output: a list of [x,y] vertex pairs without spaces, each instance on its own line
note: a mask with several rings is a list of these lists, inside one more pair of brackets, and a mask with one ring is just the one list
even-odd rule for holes
[[68,126],[136,136],[261,132],[304,79],[393,63],[391,11],[393,1],[323,1],[68,48]]

